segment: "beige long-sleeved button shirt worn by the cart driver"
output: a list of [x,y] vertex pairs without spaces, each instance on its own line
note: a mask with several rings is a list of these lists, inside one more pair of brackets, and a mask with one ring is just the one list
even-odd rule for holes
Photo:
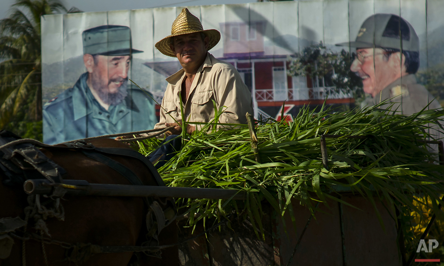
[[[184,78],[183,69],[166,78],[168,86],[160,108],[160,121],[154,128],[165,127],[165,123],[175,123],[174,119],[182,122],[179,97]],[[214,119],[213,100],[218,110],[223,107],[219,123],[246,124],[246,113],[253,114],[251,93],[238,71],[233,65],[207,53],[205,62],[198,69],[191,84],[188,99],[182,105],[185,120],[210,122]],[[191,125],[197,130],[202,128],[202,125]],[[218,125],[218,128],[221,127],[224,126]]]

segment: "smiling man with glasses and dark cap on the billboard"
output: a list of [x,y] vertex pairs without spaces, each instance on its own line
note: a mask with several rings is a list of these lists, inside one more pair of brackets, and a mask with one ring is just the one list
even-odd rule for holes
[[375,14],[362,23],[355,42],[337,46],[356,47],[350,69],[362,78],[364,92],[371,95],[364,107],[389,100],[392,110],[412,115],[429,103],[428,109],[441,108],[424,88],[416,83],[419,68],[419,38],[412,25],[393,14]]

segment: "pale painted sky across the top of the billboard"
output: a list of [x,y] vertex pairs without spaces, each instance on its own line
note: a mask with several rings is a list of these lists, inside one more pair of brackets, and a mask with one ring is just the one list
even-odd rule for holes
[[[298,37],[313,42],[322,41],[332,46],[331,48],[334,50],[341,50],[343,47],[337,47],[334,44],[354,40],[362,22],[374,13],[393,13],[404,17],[416,30],[423,50],[426,50],[428,44],[426,32],[431,32],[433,27],[444,25],[443,17],[439,14],[434,15],[434,19],[427,19],[426,0],[310,0],[300,1],[299,4],[294,1],[285,1],[285,4],[281,2],[283,5],[278,4],[276,6],[281,6],[282,8],[275,8],[273,12],[270,12],[268,9],[270,8],[268,4],[271,3],[227,6],[189,5],[196,4],[199,1],[202,3],[211,2],[211,0],[193,0],[182,3],[183,5],[180,5],[181,7],[179,8],[145,8],[138,9],[135,12],[130,12],[128,10],[130,8],[128,8],[127,10],[111,12],[69,14],[63,16],[63,22],[61,15],[45,16],[48,21],[43,23],[43,25],[48,28],[42,29],[44,35],[43,44],[44,46],[54,46],[54,43],[61,40],[60,34],[63,31],[63,38],[65,40],[63,44],[60,44],[60,48],[63,46],[61,49],[63,50],[64,60],[77,57],[83,54],[82,31],[108,23],[132,28],[133,46],[137,47],[135,49],[146,51],[143,54],[138,54],[136,57],[147,60],[152,60],[154,56],[163,58],[163,55],[160,53],[152,53],[152,46],[158,40],[169,35],[171,23],[180,13],[182,7],[185,6],[190,9],[190,12],[203,19],[202,23],[204,28],[207,29],[215,28],[222,31],[220,23],[224,22],[245,22],[249,19],[267,21],[266,31],[270,31],[270,33],[264,35],[264,41],[267,47],[274,49],[274,54],[291,54],[285,51],[278,52],[276,47],[273,47],[273,39],[278,36],[281,36],[281,39],[288,39],[293,36],[293,39],[285,41],[287,46],[294,46],[294,42],[297,42],[294,38]],[[436,9],[444,10],[444,5],[438,8],[440,6],[439,0],[428,0],[428,3],[429,7],[433,5]],[[288,6],[288,8],[284,6]],[[82,7],[79,6],[79,8]],[[202,15],[200,15],[201,12]],[[251,15],[258,17],[250,17]],[[155,18],[154,21],[152,21],[153,18]],[[436,21],[439,22],[436,23]],[[140,25],[143,26],[140,27]],[[222,44],[214,47],[212,52],[217,54],[217,50],[222,52]],[[59,61],[60,58],[62,57],[53,51],[45,54],[43,59],[44,63],[52,63]],[[168,60],[171,58],[163,59]]]

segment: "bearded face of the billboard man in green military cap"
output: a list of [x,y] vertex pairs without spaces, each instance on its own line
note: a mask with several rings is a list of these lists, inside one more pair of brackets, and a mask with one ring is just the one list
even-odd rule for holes
[[119,104],[127,95],[130,56],[97,55],[91,72],[91,84],[103,102]]

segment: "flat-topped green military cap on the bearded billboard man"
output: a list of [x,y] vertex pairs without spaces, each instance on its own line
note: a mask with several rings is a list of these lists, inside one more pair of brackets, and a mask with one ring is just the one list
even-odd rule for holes
[[83,31],[83,54],[111,56],[143,53],[132,49],[131,29],[119,25],[103,25]]

